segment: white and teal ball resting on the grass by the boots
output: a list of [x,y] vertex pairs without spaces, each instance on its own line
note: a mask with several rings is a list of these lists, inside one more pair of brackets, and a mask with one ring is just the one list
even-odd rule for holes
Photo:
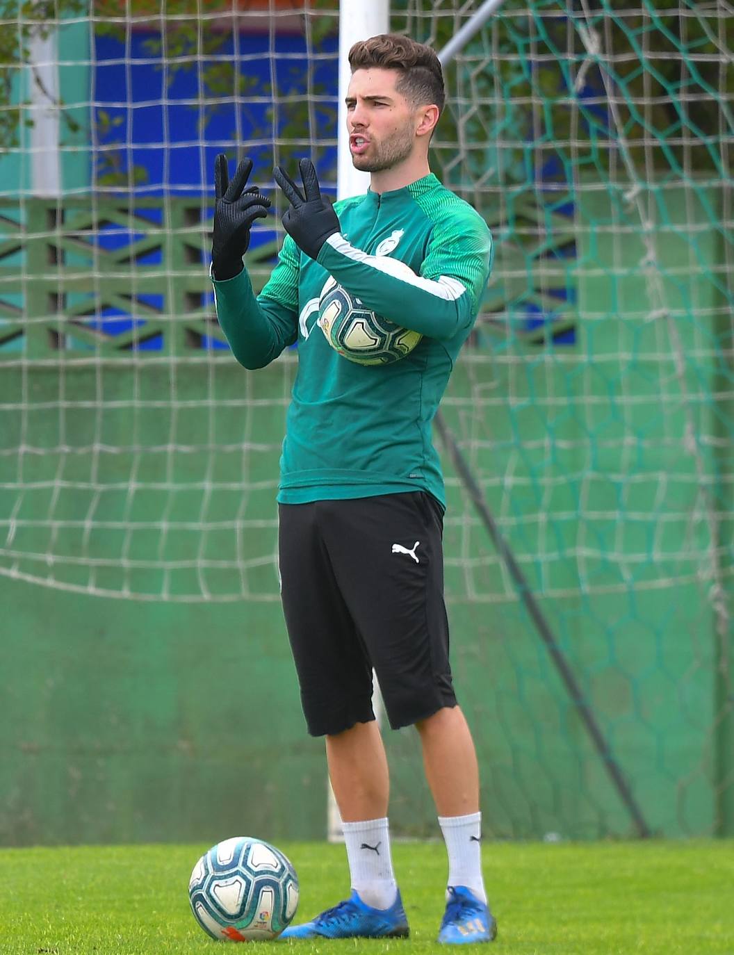
[[280,849],[238,836],[199,859],[189,881],[194,918],[213,939],[274,939],[298,907],[298,878]]

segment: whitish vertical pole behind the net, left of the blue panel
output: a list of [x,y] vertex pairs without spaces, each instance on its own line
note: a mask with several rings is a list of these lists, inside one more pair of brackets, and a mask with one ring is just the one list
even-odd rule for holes
[[46,36],[34,33],[29,52],[28,82],[33,121],[29,137],[31,193],[55,197],[61,195],[57,32],[50,29]]

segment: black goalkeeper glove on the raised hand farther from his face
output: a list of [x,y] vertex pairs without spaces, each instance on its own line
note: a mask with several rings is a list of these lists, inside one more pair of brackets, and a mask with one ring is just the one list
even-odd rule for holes
[[215,161],[212,269],[219,281],[240,274],[242,256],[250,244],[250,227],[267,215],[270,205],[256,185],[244,189],[251,172],[252,159],[242,159],[230,182],[226,156],[220,153]]

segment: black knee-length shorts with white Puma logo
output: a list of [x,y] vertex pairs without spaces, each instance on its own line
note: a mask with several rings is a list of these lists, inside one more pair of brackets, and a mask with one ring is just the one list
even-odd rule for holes
[[423,491],[280,505],[283,611],[311,735],[374,719],[372,668],[393,730],[456,705],[442,532]]

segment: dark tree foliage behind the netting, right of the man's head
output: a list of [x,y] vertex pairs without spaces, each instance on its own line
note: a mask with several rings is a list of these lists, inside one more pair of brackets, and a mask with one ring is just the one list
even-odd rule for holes
[[[452,6],[392,0],[393,29],[442,50],[465,22]],[[734,17],[711,0],[505,0],[446,71],[447,180],[607,178],[612,165],[724,176],[732,51]]]

